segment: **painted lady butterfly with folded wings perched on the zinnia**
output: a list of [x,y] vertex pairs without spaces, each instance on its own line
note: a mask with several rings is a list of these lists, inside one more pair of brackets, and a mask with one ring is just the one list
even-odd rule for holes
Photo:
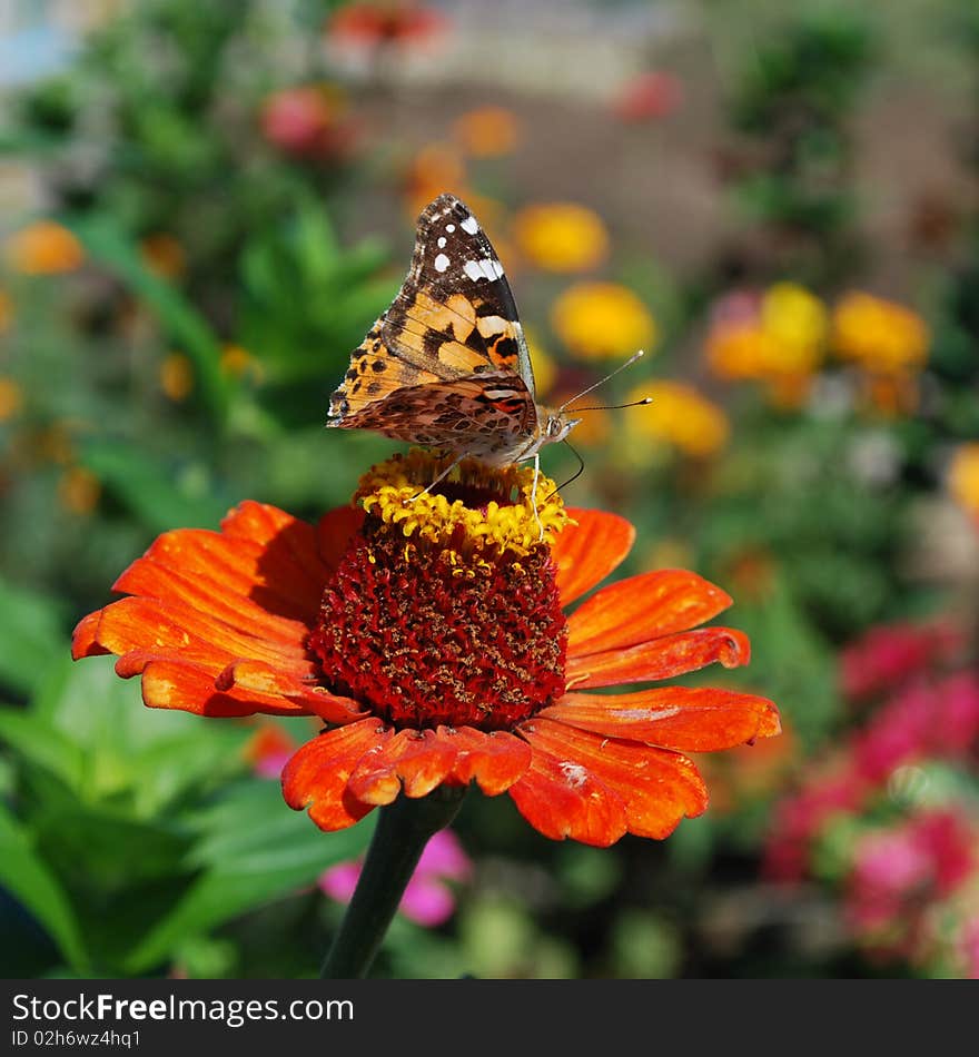
[[327,425],[439,448],[453,465],[506,466],[580,421],[537,403],[503,266],[469,209],[441,195],[418,217],[404,285],[354,349]]

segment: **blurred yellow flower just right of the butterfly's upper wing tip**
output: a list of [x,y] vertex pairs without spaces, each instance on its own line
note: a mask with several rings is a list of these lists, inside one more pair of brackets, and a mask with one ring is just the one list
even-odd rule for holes
[[513,231],[524,257],[547,271],[587,271],[609,255],[602,218],[575,202],[527,206],[514,217]]

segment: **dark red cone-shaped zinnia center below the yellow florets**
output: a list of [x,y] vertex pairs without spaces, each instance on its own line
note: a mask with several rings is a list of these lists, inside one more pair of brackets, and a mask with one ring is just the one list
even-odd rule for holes
[[327,684],[398,728],[504,730],[561,697],[567,629],[550,549],[466,542],[463,527],[426,541],[365,520],[309,639]]

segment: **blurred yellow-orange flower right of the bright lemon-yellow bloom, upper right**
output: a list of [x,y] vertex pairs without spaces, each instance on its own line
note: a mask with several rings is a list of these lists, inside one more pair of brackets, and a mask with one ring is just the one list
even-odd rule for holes
[[924,365],[929,332],[924,320],[894,302],[861,290],[833,309],[833,347],[843,359],[873,374],[900,374]]

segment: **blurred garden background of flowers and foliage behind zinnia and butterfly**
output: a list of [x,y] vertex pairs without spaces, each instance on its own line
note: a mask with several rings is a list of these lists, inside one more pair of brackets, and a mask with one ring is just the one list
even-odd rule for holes
[[469,796],[376,971],[979,976],[972,0],[0,0],[4,975],[315,975],[370,828],[284,806],[315,724],[150,712],[69,636],[160,532],[398,448],[328,396],[444,190],[543,397],[650,353],[565,500],[733,595],[705,681],[785,729],[664,842]]

